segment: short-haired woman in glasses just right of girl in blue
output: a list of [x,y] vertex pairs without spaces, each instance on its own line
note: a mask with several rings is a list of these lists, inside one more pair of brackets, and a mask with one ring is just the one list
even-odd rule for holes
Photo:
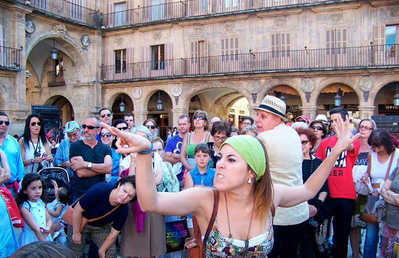
[[231,132],[231,125],[226,121],[217,121],[213,123],[210,134],[214,142],[208,142],[207,145],[210,149],[209,167],[216,168],[217,153],[219,153],[220,145],[229,137]]

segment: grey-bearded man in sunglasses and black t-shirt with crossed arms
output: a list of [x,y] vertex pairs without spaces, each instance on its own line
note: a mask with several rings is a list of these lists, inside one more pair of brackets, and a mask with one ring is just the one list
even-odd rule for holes
[[105,183],[105,174],[112,170],[112,150],[97,141],[100,120],[87,116],[83,128],[83,139],[71,143],[69,159],[73,170],[73,200],[77,200],[92,185]]

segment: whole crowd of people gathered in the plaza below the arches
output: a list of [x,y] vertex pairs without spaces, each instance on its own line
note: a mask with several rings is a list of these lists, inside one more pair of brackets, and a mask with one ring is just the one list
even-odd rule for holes
[[[192,120],[182,114],[164,142],[153,119],[136,126],[133,115],[114,121],[103,108],[82,125],[67,122],[59,144],[37,114],[16,140],[0,112],[0,191],[24,223],[17,239],[12,216],[2,216],[0,257],[33,245],[44,252],[37,241],[58,243],[64,257],[82,257],[87,241],[89,256],[159,257],[166,223],[183,220],[192,237],[200,229],[206,257],[344,258],[350,240],[354,258],[377,257],[379,242],[379,255],[391,258],[399,242],[397,138],[343,108],[292,124],[276,97],[255,110],[241,131],[206,111]],[[39,173],[46,164],[69,177],[67,187],[51,180],[52,201]],[[62,217],[68,206],[70,224]]]

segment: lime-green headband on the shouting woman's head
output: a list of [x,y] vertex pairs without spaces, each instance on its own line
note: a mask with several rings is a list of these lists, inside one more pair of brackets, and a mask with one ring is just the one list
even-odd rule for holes
[[228,144],[235,149],[255,172],[256,180],[261,178],[266,170],[265,152],[259,140],[251,135],[235,135],[228,137],[221,145]]

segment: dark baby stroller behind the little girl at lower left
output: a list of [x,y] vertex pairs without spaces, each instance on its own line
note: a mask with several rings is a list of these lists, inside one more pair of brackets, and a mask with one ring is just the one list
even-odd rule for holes
[[69,190],[68,172],[64,168],[46,167],[39,171],[39,175],[44,179],[43,191],[46,191],[47,202],[52,202],[55,199],[54,186],[51,184],[51,180],[57,182],[58,187],[65,187]]

